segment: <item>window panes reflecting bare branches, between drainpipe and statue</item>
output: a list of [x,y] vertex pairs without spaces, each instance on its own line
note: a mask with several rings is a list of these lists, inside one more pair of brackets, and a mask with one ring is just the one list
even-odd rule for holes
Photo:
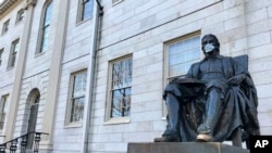
[[111,63],[109,119],[131,115],[132,66],[131,56]]

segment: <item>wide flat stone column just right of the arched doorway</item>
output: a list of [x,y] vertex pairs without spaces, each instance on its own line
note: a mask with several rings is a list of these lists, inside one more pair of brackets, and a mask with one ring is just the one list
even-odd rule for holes
[[49,133],[46,140],[40,142],[41,150],[52,150],[53,127],[55,120],[55,109],[59,94],[61,66],[63,50],[65,44],[66,22],[67,22],[69,1],[53,1],[53,12],[50,24],[52,36],[51,63],[49,67],[49,81],[46,95],[42,132]]

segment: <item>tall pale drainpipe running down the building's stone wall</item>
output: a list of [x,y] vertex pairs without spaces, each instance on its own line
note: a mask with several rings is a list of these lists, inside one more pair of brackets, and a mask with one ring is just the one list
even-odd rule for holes
[[84,105],[84,120],[83,120],[83,145],[81,153],[88,152],[88,133],[89,133],[89,126],[90,126],[90,118],[91,118],[91,104],[92,104],[92,93],[94,93],[94,84],[95,84],[95,71],[96,71],[96,53],[99,48],[100,41],[100,29],[101,29],[101,16],[103,15],[103,8],[99,0],[96,0],[94,4],[94,24],[91,26],[91,50],[89,53],[90,62],[88,65],[87,72],[87,87],[86,87],[86,103]]

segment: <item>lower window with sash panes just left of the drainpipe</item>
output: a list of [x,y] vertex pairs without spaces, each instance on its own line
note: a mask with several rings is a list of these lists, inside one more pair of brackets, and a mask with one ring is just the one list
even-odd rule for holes
[[71,77],[69,123],[83,120],[87,71],[75,73]]

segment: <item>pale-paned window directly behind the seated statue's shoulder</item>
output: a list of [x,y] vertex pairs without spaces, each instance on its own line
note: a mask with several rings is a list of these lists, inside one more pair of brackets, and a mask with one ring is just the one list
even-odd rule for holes
[[188,35],[166,43],[166,78],[184,77],[190,65],[200,60],[200,35]]

